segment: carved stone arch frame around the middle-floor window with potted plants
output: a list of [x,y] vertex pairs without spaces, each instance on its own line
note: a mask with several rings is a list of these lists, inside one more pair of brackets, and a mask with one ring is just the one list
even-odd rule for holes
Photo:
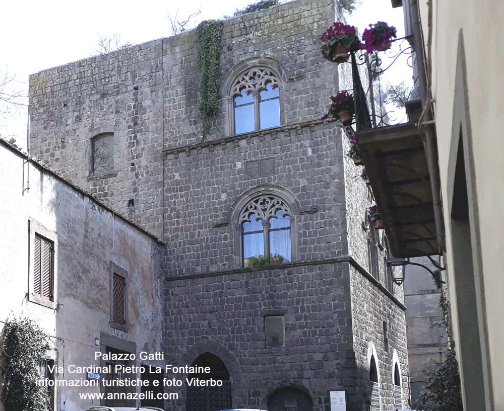
[[296,222],[300,212],[296,197],[286,189],[278,186],[259,186],[243,193],[231,206],[228,217],[229,224],[234,227],[234,263],[235,267],[243,267],[243,235],[241,215],[250,201],[261,196],[274,196],[283,200],[290,210],[291,263],[297,261],[297,229]]

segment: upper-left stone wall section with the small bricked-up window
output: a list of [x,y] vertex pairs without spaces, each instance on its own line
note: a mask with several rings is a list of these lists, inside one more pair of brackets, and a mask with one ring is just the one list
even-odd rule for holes
[[[162,41],[30,76],[30,151],[161,236]],[[92,176],[91,138],[114,133],[114,170]],[[134,206],[128,204],[134,200]],[[131,204],[131,203],[130,203]]]

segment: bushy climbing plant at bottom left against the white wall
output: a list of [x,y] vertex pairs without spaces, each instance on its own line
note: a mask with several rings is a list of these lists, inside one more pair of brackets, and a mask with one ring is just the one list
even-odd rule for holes
[[45,358],[48,340],[28,318],[6,322],[2,333],[0,367],[6,385],[4,406],[9,411],[47,411],[47,389],[36,385],[37,363]]

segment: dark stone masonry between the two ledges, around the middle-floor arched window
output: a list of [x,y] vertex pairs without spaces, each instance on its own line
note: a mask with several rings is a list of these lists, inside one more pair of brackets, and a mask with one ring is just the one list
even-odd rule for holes
[[[345,186],[337,131],[330,123],[318,122],[168,153],[164,162],[167,272],[187,275],[241,267],[234,257],[239,254],[234,242],[241,235],[235,229],[239,221],[229,224],[229,213],[243,193],[266,185],[291,192],[301,210],[319,209],[293,215],[297,261],[346,255]],[[262,158],[274,159],[272,175],[247,179],[245,162]],[[214,227],[215,221],[226,225]]]

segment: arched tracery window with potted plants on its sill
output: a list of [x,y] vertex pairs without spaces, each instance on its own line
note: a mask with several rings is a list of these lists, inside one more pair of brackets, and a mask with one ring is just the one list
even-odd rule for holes
[[291,213],[287,204],[274,195],[250,201],[241,214],[243,263],[248,257],[275,254],[292,260]]

